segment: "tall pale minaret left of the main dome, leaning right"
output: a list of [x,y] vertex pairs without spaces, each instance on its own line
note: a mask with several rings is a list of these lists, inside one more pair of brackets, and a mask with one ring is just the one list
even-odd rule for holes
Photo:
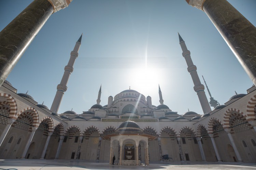
[[71,53],[70,53],[70,59],[69,59],[68,65],[65,66],[65,68],[64,68],[65,71],[64,71],[64,74],[63,74],[60,84],[58,84],[58,86],[57,86],[57,92],[56,92],[56,95],[55,95],[55,98],[53,100],[53,104],[51,107],[52,112],[55,112],[55,113],[58,112],[61,99],[64,95],[64,92],[67,91],[67,88],[68,88],[67,83],[68,83],[70,74],[73,72],[73,65],[75,63],[75,59],[78,57],[78,51],[81,46],[82,36],[83,36],[83,34],[77,40],[74,50],[71,51]]

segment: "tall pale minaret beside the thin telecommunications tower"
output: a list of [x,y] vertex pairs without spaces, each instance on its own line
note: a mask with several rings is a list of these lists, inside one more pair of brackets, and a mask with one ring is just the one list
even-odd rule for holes
[[194,90],[197,92],[197,96],[199,98],[201,107],[203,109],[203,113],[204,114],[205,113],[210,113],[212,110],[211,110],[211,107],[208,103],[207,97],[205,95],[204,86],[201,84],[200,79],[198,77],[198,74],[197,74],[197,71],[196,71],[197,67],[193,64],[193,62],[191,60],[191,57],[190,57],[190,51],[187,50],[185,41],[181,38],[180,34],[179,34],[179,39],[180,39],[181,49],[182,49],[182,52],[183,52],[182,55],[183,55],[183,57],[185,58],[185,60],[187,62],[187,66],[188,66],[187,70],[190,73],[191,78],[193,80],[193,83],[195,85]]

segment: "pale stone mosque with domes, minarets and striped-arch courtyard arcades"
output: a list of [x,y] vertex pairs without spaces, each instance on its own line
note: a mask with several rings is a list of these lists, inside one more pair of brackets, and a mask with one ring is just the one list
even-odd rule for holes
[[166,160],[256,162],[255,86],[223,105],[210,95],[209,104],[180,34],[179,41],[203,115],[173,112],[163,104],[160,86],[157,106],[150,96],[132,89],[110,96],[102,106],[100,87],[96,104],[88,111],[59,114],[81,35],[50,109],[27,93],[17,94],[8,81],[0,87],[0,158],[107,160],[112,164],[115,155],[119,165]]

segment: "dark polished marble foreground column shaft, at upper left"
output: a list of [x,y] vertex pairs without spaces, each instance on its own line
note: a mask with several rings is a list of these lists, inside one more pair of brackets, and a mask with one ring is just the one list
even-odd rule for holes
[[47,0],[33,1],[0,32],[0,86],[52,13]]

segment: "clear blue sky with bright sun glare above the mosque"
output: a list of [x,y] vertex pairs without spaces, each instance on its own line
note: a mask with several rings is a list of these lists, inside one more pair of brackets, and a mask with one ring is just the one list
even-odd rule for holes
[[[255,0],[228,0],[256,25]],[[0,30],[32,0],[0,0]],[[164,104],[178,114],[203,114],[177,35],[185,40],[203,83],[224,104],[238,93],[246,94],[253,83],[210,19],[185,0],[73,0],[54,13],[13,69],[8,81],[18,93],[31,95],[49,108],[62,78],[70,52],[84,33],[82,45],[58,113],[77,114],[96,104],[102,84],[101,105],[119,92],[137,90],[159,105],[158,84]],[[163,58],[164,68],[96,68],[102,58]],[[111,58],[110,58],[111,57]],[[88,59],[89,58],[89,59]],[[94,60],[95,58],[95,60]],[[94,61],[81,66],[84,61]],[[205,90],[209,99],[209,94]]]

